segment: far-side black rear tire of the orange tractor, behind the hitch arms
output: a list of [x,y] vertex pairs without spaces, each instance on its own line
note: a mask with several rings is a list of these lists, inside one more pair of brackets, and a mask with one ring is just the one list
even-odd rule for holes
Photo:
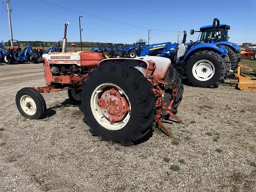
[[[177,109],[182,100],[183,90],[184,90],[180,74],[177,72],[177,70],[173,66],[171,66],[164,80],[177,85],[176,89],[178,91],[178,95],[176,96],[174,103],[172,105],[172,109]],[[164,92],[166,93],[164,96],[164,103],[166,103],[165,107],[167,108],[168,105],[170,104],[170,101],[173,98],[172,96],[173,89],[170,86],[164,85]]]

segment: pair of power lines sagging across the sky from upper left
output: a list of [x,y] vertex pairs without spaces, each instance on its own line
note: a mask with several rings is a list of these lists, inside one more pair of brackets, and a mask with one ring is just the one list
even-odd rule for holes
[[[32,0],[29,0],[29,1],[34,2]],[[39,3],[39,2],[34,2],[34,3],[42,4],[42,3]],[[103,17],[100,17],[100,16],[95,16],[95,15],[88,14],[88,13],[85,13],[85,12],[81,12],[81,11],[78,11],[78,10],[74,10],[74,9],[71,9],[71,8],[66,8],[64,6],[56,5],[56,4],[53,4],[53,3],[50,3],[50,2],[44,2],[44,3],[46,3],[46,4],[42,4],[44,6],[49,6],[49,7],[55,8],[55,9],[63,10],[63,9],[58,8],[58,7],[62,7],[62,8],[68,9],[68,10],[79,12],[80,15],[82,14],[83,16],[93,18],[93,19],[97,19],[97,20],[102,20],[104,22],[110,22],[110,23],[120,24],[120,25],[124,25],[124,26],[130,26],[130,27],[142,28],[142,29],[151,29],[151,30],[157,30],[157,31],[180,32],[180,31],[175,31],[175,30],[162,30],[162,29],[155,29],[155,28],[148,28],[148,27],[144,27],[144,26],[132,25],[132,24],[124,23],[124,22],[119,22],[119,21],[116,21],[116,20],[103,18]],[[47,5],[47,4],[52,4],[52,5],[57,6],[57,7],[53,7],[53,6],[50,6],[50,5]],[[64,11],[70,12],[68,10],[64,10]],[[71,12],[71,13],[78,14],[78,13],[75,13],[75,12]]]

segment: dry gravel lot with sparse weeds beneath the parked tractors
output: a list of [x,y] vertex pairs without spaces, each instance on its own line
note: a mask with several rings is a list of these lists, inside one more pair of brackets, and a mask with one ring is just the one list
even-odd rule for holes
[[44,86],[42,64],[2,65],[0,81],[1,191],[255,191],[255,92],[184,86],[185,124],[164,123],[175,140],[154,128],[123,147],[92,136],[66,91],[44,94],[47,118],[20,115],[16,92]]

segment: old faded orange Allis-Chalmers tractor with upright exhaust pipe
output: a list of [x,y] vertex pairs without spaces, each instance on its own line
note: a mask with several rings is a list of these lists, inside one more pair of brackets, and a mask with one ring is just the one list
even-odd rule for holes
[[182,100],[180,76],[168,58],[140,57],[106,59],[96,52],[65,52],[65,24],[62,52],[44,54],[46,85],[22,88],[16,105],[26,118],[43,118],[46,102],[41,93],[68,90],[70,99],[81,103],[84,122],[100,140],[134,144],[150,132],[154,120],[172,137],[160,121],[172,116]]

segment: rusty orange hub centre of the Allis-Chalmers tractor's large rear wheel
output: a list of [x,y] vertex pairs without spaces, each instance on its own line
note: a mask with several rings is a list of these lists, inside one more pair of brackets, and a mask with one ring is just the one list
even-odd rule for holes
[[97,103],[102,114],[110,121],[110,124],[122,121],[130,111],[126,98],[114,87],[106,90],[97,100]]

